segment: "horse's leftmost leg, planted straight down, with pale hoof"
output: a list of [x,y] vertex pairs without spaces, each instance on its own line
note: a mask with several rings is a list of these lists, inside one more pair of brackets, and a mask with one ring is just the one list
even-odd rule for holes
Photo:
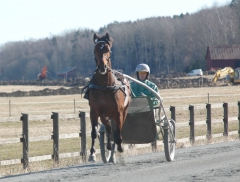
[[96,161],[95,156],[95,141],[98,136],[98,117],[95,116],[92,112],[90,112],[90,118],[91,118],[91,124],[92,124],[92,132],[91,132],[91,138],[92,138],[92,146],[90,149],[90,156],[88,161]]

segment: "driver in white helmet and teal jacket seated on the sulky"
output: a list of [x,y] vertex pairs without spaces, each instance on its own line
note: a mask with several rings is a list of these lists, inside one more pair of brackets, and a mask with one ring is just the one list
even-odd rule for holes
[[[153,82],[149,81],[150,75],[150,68],[147,64],[139,64],[136,67],[135,73],[137,75],[137,79],[142,83],[145,83],[147,86],[152,88],[154,91],[158,93],[158,87]],[[139,85],[136,82],[131,82],[131,89],[132,89],[132,97],[141,97],[141,96],[149,96],[153,101],[153,106],[159,104],[159,99],[155,97],[154,93],[149,91],[147,88]]]

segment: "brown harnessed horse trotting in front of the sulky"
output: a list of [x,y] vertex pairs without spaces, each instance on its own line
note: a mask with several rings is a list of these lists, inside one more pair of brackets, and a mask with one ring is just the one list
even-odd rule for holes
[[[111,47],[113,39],[106,33],[105,36],[93,36],[95,43],[94,56],[96,70],[88,85],[90,119],[92,124],[92,146],[89,160],[95,161],[95,140],[98,136],[98,118],[104,124],[107,132],[107,149],[113,150],[117,144],[117,150],[123,152],[121,130],[127,115],[127,109],[131,101],[129,82],[111,67]],[[111,145],[112,125],[115,122],[114,145]]]

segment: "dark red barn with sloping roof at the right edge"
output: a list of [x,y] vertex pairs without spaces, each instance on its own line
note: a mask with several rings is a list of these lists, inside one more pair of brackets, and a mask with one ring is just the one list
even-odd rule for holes
[[240,45],[210,45],[206,53],[207,70],[240,67]]

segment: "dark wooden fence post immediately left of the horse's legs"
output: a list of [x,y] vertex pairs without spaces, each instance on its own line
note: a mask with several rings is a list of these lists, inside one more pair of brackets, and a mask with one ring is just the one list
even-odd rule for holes
[[80,118],[80,133],[79,137],[81,137],[81,152],[80,156],[82,156],[83,162],[87,161],[87,134],[86,134],[86,113],[79,112]]

